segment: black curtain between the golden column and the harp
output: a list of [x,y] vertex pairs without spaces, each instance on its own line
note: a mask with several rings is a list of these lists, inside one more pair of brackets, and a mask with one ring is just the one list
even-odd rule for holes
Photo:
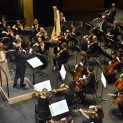
[[34,18],[38,19],[40,24],[53,25],[54,5],[56,5],[55,0],[33,0]]

